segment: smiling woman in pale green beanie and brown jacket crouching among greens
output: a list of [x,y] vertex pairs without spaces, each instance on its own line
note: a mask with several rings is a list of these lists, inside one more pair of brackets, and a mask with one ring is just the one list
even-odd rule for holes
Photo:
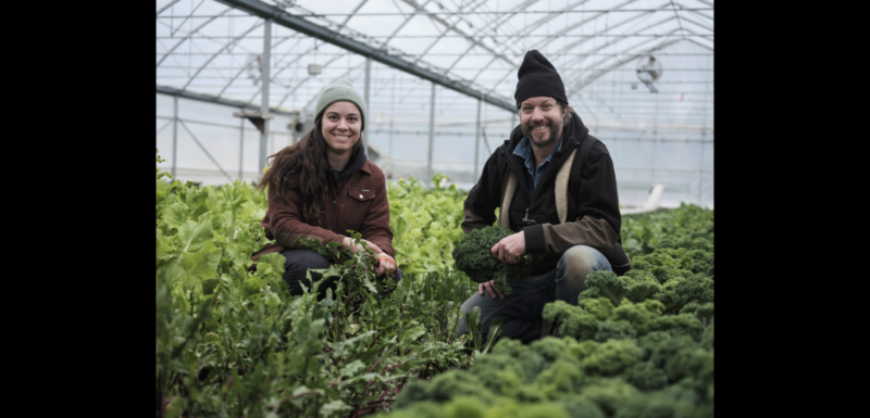
[[[343,78],[323,89],[314,112],[314,128],[297,144],[269,157],[269,170],[257,187],[269,186],[269,208],[260,225],[275,243],[251,259],[281,252],[286,258],[284,280],[293,294],[301,294],[300,282],[310,286],[308,269],[328,268],[330,261],[300,239],[340,242],[356,253],[362,246],[351,249],[347,232],[351,229],[378,253],[378,277],[385,271],[401,277],[394,259],[386,179],[365,159],[360,141],[365,102]],[[312,278],[320,276],[312,274]]]

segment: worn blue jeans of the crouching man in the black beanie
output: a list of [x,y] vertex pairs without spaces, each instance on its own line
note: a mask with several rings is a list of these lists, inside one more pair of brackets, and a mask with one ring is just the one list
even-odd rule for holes
[[[484,341],[489,322],[501,318],[501,335],[526,344],[540,337],[544,305],[555,300],[576,305],[580,292],[586,290],[586,276],[597,270],[612,271],[604,254],[592,246],[575,245],[562,254],[555,270],[513,283],[513,290],[505,299],[492,299],[486,291],[483,295],[474,293],[460,309],[468,314],[474,306],[481,307]],[[460,318],[457,335],[467,332],[465,320]]]

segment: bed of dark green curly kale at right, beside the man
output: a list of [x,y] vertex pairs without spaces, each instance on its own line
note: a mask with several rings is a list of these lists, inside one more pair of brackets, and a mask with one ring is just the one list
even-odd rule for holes
[[624,223],[635,268],[589,276],[577,306],[547,304],[561,338],[501,339],[468,371],[409,383],[390,416],[712,416],[713,212]]

